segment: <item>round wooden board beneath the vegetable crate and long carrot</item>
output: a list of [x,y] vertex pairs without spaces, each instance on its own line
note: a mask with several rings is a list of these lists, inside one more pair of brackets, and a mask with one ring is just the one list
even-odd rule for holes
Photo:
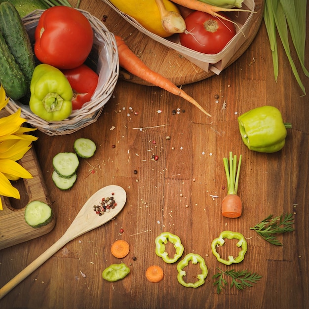
[[[103,1],[101,2],[102,4],[97,7],[98,10],[96,10],[97,13],[95,15],[99,19],[102,19],[103,15],[106,15],[107,18],[105,25],[107,28],[115,35],[124,38],[130,49],[155,72],[167,77],[176,85],[193,83],[215,75],[212,71],[205,72],[186,58],[179,55],[177,51],[170,49],[139,32],[119,16],[109,5]],[[87,7],[80,8],[87,9]],[[264,0],[256,0],[256,14],[253,14],[249,35],[243,45],[233,55],[228,66],[236,61],[247,50],[255,38],[263,19],[263,9]],[[127,72],[121,70],[119,78],[126,79],[133,83],[150,85],[142,79],[129,75]]]

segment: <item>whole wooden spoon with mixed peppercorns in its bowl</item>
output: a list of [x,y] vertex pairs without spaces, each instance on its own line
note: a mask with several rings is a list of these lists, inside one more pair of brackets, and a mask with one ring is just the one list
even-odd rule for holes
[[[112,193],[114,193],[114,195],[112,195]],[[114,196],[117,203],[115,208],[110,209],[110,212],[105,212],[102,216],[97,215],[96,212],[93,211],[93,206],[99,205],[99,202],[103,197],[111,196]],[[10,290],[23,281],[33,271],[38,269],[39,266],[41,266],[69,241],[85,232],[98,228],[113,219],[121,211],[125,202],[126,192],[119,186],[107,186],[94,193],[80,209],[68,230],[51,247],[49,247],[36,260],[29,264],[24,270],[18,273],[0,289],[0,299],[2,299]]]

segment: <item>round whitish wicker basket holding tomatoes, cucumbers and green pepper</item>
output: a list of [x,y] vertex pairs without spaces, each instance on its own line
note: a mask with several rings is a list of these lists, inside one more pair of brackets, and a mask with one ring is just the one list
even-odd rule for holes
[[[33,11],[23,18],[31,40],[34,39],[35,28],[43,11]],[[50,136],[71,134],[95,122],[101,115],[104,105],[111,98],[119,75],[118,51],[114,35],[108,31],[99,19],[86,11],[80,9],[79,11],[89,20],[94,32],[94,43],[90,58],[97,66],[99,82],[91,101],[85,103],[81,109],[73,110],[67,119],[53,122],[45,121],[34,115],[29,106],[16,100],[9,100],[5,107],[11,114],[21,108],[21,117],[25,118],[34,127],[37,127],[39,131]]]

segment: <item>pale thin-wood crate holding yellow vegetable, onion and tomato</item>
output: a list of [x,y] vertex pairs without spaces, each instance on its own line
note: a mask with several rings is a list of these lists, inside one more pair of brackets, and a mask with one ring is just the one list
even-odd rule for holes
[[169,48],[175,49],[177,52],[179,52],[179,54],[183,55],[202,70],[206,72],[209,72],[210,70],[215,74],[220,74],[220,72],[226,68],[232,56],[247,39],[250,24],[252,22],[253,11],[255,8],[254,0],[244,0],[241,8],[250,10],[251,12],[224,12],[232,19],[232,21],[238,25],[238,27],[236,27],[236,35],[229,41],[229,43],[221,52],[218,54],[209,55],[182,46],[179,42],[178,35],[173,35],[165,39],[154,35],[150,31],[146,30],[134,18],[118,10],[109,0],[102,1],[110,5],[120,16],[122,16],[128,23],[130,23],[140,32]]

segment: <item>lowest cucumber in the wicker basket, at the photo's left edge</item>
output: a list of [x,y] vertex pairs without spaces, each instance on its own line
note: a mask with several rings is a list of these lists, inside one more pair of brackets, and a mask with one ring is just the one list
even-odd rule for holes
[[25,76],[19,69],[18,64],[0,32],[0,83],[5,93],[13,100],[18,100],[26,95],[28,86]]

